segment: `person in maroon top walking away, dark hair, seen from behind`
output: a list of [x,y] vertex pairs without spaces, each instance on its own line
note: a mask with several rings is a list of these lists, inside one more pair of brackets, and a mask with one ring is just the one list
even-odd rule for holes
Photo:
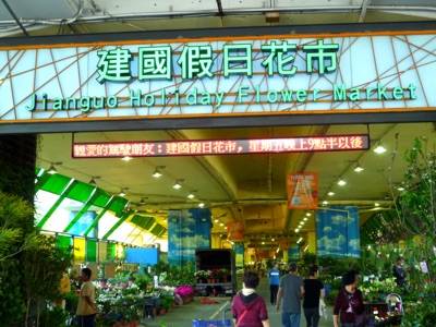
[[245,271],[242,290],[233,298],[231,306],[235,327],[269,327],[265,301],[256,293],[258,283],[255,271]]

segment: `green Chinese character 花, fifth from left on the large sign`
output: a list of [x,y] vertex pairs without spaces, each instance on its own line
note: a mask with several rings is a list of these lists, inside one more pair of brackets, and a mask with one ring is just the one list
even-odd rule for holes
[[[288,44],[288,41],[279,44],[272,40],[267,45],[262,45],[261,49],[264,52],[269,52],[268,58],[262,62],[263,66],[268,68],[268,75],[274,74],[276,59],[277,71],[280,75],[294,75],[296,73],[296,66],[293,65],[295,57],[293,55],[284,56],[286,52],[296,51],[296,45]],[[287,65],[289,65],[288,69]]]

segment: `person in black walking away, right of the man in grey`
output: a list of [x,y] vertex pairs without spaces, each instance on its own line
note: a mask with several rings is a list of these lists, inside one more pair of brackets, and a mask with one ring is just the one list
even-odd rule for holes
[[313,266],[308,270],[308,279],[304,279],[303,308],[307,327],[318,327],[319,299],[324,295],[324,283],[318,279],[318,267]]

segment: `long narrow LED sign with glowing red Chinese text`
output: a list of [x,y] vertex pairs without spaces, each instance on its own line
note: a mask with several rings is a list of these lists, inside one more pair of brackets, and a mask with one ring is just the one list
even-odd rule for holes
[[364,150],[368,135],[330,135],[263,140],[197,140],[74,143],[73,158],[177,157],[303,152]]

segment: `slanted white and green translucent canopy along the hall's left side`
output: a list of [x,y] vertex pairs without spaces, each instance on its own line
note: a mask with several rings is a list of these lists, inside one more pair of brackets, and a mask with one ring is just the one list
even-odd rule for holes
[[135,245],[148,245],[146,240],[167,232],[154,217],[130,209],[122,196],[44,169],[38,169],[37,177],[36,225],[40,230]]

